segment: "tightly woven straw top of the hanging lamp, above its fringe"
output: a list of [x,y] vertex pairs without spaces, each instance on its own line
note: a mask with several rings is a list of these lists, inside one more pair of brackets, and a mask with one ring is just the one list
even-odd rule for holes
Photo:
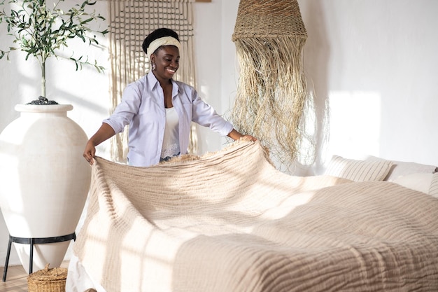
[[232,41],[294,36],[307,39],[296,0],[241,0]]

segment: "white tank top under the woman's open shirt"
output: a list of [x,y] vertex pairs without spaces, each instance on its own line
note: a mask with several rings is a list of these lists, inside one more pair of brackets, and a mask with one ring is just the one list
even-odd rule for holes
[[161,149],[161,161],[169,160],[181,153],[179,148],[178,114],[174,107],[166,109],[166,127],[164,127],[164,140]]

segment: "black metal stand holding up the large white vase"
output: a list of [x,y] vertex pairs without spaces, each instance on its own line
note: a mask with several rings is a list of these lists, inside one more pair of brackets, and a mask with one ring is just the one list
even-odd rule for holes
[[9,235],[9,243],[8,243],[8,252],[6,253],[6,262],[3,270],[3,282],[6,281],[6,274],[8,274],[8,264],[9,264],[9,256],[10,256],[10,247],[12,243],[19,244],[29,244],[30,245],[30,253],[29,253],[29,274],[32,273],[32,267],[34,265],[34,244],[51,244],[55,242],[66,242],[73,239],[76,240],[76,233],[73,232],[69,235],[63,236],[55,236],[55,237],[39,237],[39,238],[27,238],[27,237],[15,237]]

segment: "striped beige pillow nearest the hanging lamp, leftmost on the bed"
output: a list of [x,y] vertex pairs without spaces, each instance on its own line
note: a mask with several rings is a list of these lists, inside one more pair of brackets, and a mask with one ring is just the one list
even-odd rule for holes
[[324,174],[351,181],[383,181],[392,165],[389,160],[352,160],[333,155]]

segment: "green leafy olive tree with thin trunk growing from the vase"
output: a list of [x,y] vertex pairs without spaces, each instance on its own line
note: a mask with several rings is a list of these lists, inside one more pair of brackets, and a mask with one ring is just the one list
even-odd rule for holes
[[[6,0],[0,0],[0,24],[6,23],[9,36],[13,36],[13,46],[7,50],[0,49],[0,59],[13,50],[22,50],[29,56],[34,56],[41,66],[41,91],[45,95],[45,62],[49,57],[62,57],[57,50],[68,47],[72,39],[81,39],[88,46],[99,44],[97,34],[104,36],[107,29],[95,30],[91,25],[94,22],[104,21],[105,18],[96,11],[87,12],[87,8],[96,4],[96,0],[85,0],[82,4],[76,4],[68,11],[62,10],[60,3],[65,0],[57,0],[53,8],[46,6],[45,0],[9,0],[10,12],[6,13],[4,5]],[[17,7],[16,9],[14,9]],[[73,53],[74,55],[74,53]],[[68,60],[75,62],[76,70],[82,69],[83,65],[90,65],[101,72],[104,67],[96,61],[89,62],[87,55],[69,57]]]

